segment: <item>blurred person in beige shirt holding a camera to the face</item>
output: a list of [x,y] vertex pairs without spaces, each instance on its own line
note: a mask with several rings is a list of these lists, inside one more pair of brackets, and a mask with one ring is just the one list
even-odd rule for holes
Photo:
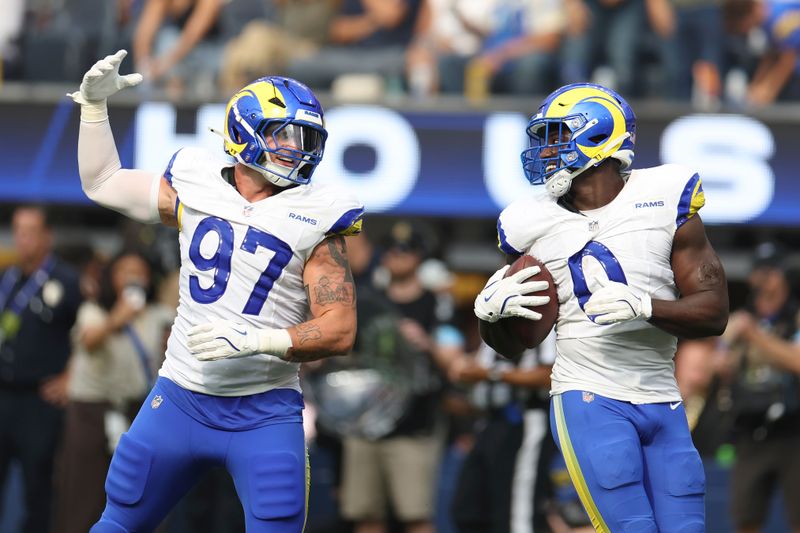
[[150,302],[151,276],[144,255],[124,251],[106,266],[97,301],[78,310],[57,487],[59,533],[85,533],[100,517],[113,449],[164,358],[174,310]]

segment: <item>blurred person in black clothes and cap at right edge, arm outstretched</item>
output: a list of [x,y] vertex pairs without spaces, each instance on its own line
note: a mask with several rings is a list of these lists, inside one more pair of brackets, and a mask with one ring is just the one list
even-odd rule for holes
[[759,531],[776,488],[786,518],[800,530],[800,304],[775,245],[756,250],[750,304],[731,315],[722,337],[738,373],[733,384],[736,464],[733,517],[739,532]]

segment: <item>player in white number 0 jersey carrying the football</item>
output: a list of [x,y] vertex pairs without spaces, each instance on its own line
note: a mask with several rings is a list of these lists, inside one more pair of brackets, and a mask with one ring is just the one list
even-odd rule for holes
[[[701,532],[705,478],[674,377],[676,337],[718,335],[725,274],[697,212],[700,178],[677,165],[631,170],[636,122],[614,91],[580,83],[531,118],[522,163],[544,190],[500,215],[500,248],[539,258],[557,285],[551,426],[597,531]],[[475,300],[484,340],[522,347],[508,316],[538,320],[524,283],[504,278]],[[533,306],[533,309],[524,306]]]

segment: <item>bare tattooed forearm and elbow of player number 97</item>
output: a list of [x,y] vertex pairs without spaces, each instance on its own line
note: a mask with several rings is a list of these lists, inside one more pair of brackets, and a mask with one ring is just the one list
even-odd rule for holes
[[289,328],[292,348],[286,359],[306,362],[349,353],[356,336],[356,295],[344,237],[317,245],[303,281],[313,318]]

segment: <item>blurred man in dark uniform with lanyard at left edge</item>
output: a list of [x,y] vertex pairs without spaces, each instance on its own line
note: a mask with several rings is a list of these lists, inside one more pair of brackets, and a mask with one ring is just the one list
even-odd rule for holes
[[17,459],[23,531],[47,533],[63,415],[58,390],[81,295],[78,275],[52,254],[44,209],[18,207],[12,227],[17,263],[0,276],[0,480]]

